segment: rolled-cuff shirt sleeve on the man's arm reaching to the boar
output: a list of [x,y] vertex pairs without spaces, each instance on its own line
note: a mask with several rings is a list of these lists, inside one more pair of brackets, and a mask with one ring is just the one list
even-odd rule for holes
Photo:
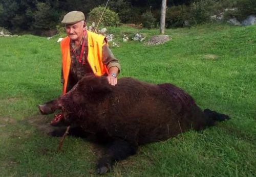
[[118,67],[119,72],[121,70],[121,65],[119,63],[119,60],[115,58],[109,46],[106,45],[105,42],[103,42],[103,46],[102,46],[102,63],[106,65],[108,70],[113,66]]

